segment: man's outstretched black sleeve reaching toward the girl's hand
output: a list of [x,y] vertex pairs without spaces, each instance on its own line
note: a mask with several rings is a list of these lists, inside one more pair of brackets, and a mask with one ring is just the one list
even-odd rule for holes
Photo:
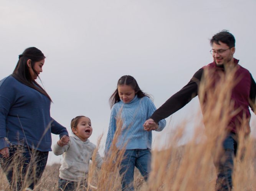
[[198,93],[198,85],[203,74],[203,68],[199,69],[190,79],[188,84],[184,86],[176,94],[173,94],[161,107],[159,107],[150,117],[156,123],[169,117],[179,109],[190,102]]

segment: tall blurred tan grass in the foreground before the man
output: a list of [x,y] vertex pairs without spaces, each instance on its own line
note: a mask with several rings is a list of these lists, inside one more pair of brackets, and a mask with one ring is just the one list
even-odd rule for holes
[[[178,128],[170,137],[169,147],[153,154],[152,173],[145,190],[164,191],[211,191],[215,189],[216,172],[213,165],[222,151],[222,142],[227,134],[231,118],[240,110],[234,110],[231,92],[239,79],[235,70],[220,75],[218,83],[213,81],[211,71],[206,71],[205,80],[200,83],[199,99],[203,112],[203,122],[195,127],[191,141],[184,146],[177,143],[183,135]],[[213,83],[215,88],[213,89]],[[203,125],[204,124],[204,125]],[[255,141],[245,138],[248,120],[238,132],[239,148],[233,175],[233,190],[256,190]],[[244,157],[242,157],[244,156]],[[243,158],[243,160],[240,160]]]

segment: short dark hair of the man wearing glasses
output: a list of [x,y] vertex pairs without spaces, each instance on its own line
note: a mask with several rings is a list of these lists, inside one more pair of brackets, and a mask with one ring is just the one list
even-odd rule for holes
[[220,42],[222,42],[228,45],[228,47],[232,48],[232,47],[235,47],[236,40],[233,34],[228,32],[227,30],[222,30],[221,32],[218,32],[211,38],[210,40],[211,46],[213,45],[213,42],[215,42],[218,45],[220,45]]

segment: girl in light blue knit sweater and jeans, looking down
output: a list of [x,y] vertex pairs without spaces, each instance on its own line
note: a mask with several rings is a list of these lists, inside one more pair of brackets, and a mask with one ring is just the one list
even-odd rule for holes
[[[122,119],[122,132],[116,143],[117,149],[126,149],[119,173],[122,178],[122,190],[133,190],[134,167],[137,167],[147,181],[151,163],[152,131],[144,130],[144,121],[156,110],[149,96],[142,92],[132,76],[122,76],[117,83],[116,91],[111,95],[111,117],[107,133],[105,154],[109,151],[114,134],[116,121]],[[162,131],[165,120],[155,124],[156,131]]]

